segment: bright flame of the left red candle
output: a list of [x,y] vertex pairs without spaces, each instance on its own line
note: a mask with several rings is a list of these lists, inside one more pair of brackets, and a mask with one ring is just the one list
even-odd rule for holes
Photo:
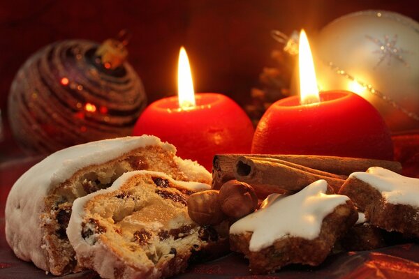
[[179,107],[188,109],[195,107],[195,94],[193,91],[191,66],[189,66],[188,54],[184,47],[180,48],[179,64],[177,66],[177,95]]

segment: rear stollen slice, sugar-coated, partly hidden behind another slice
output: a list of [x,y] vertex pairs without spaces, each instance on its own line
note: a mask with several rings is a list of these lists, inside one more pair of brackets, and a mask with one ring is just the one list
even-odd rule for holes
[[5,213],[10,247],[20,259],[54,275],[79,271],[66,235],[73,201],[136,169],[210,183],[211,174],[204,167],[175,153],[175,146],[147,135],[89,142],[53,153],[10,190]]

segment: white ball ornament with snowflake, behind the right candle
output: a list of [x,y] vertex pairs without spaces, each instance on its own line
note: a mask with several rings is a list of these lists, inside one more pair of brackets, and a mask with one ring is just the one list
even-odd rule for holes
[[339,17],[314,40],[321,90],[346,89],[367,99],[392,133],[419,129],[419,23],[365,10]]

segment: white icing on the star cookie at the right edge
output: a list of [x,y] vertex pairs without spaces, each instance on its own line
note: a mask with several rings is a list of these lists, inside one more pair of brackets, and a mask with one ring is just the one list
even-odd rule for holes
[[391,204],[419,207],[419,179],[402,176],[383,167],[370,167],[367,172],[349,176],[368,183]]

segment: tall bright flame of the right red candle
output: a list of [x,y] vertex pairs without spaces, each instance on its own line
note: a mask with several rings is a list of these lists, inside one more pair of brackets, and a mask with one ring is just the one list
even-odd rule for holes
[[311,55],[309,39],[304,31],[300,33],[298,66],[300,69],[300,103],[308,105],[320,102],[314,70],[313,56]]

